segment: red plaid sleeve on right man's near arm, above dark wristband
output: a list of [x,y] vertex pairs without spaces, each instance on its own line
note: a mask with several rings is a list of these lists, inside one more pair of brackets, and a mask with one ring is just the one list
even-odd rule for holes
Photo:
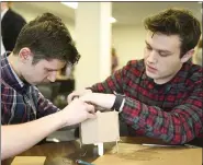
[[170,113],[126,97],[121,115],[127,125],[148,137],[171,144],[189,142],[203,132],[202,87],[202,81],[199,81],[190,96]]

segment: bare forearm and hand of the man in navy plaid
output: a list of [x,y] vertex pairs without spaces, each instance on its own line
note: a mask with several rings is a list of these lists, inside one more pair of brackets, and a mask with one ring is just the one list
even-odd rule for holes
[[[25,123],[1,126],[3,132],[1,134],[1,160],[26,151],[43,138],[65,126],[76,125],[94,117],[92,105],[75,98],[58,113]],[[13,140],[13,137],[15,140]]]

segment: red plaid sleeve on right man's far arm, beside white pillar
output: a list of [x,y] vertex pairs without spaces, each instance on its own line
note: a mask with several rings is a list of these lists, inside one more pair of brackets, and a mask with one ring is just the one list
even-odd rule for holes
[[93,92],[98,93],[116,93],[123,94],[123,89],[125,87],[126,83],[126,72],[129,70],[133,61],[129,61],[125,67],[115,71],[114,74],[110,75],[106,80],[101,83],[97,83],[92,85],[91,89]]

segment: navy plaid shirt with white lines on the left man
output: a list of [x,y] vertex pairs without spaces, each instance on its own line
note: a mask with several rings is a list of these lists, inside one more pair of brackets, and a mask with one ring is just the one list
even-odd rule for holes
[[1,125],[22,123],[58,111],[36,86],[20,80],[7,54],[1,57]]

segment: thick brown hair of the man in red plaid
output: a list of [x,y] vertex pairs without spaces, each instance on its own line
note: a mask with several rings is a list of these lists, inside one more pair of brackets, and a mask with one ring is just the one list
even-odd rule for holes
[[179,35],[181,40],[180,57],[196,46],[201,35],[200,22],[185,9],[167,9],[147,17],[144,25],[153,33]]

